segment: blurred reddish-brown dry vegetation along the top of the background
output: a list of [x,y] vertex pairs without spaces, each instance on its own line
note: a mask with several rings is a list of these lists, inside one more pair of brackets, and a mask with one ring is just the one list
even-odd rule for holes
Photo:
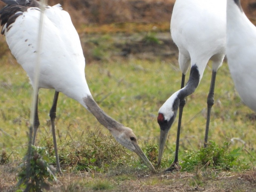
[[[175,0],[52,0],[70,12],[76,24],[169,22]],[[256,1],[241,0],[245,14],[256,16]]]

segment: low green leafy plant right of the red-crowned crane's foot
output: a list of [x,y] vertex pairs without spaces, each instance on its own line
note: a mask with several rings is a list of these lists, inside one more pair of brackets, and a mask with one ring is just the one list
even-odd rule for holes
[[247,165],[242,165],[238,156],[241,148],[236,148],[229,151],[230,143],[225,142],[223,146],[219,147],[215,142],[209,141],[206,148],[202,147],[198,151],[186,151],[187,155],[182,159],[181,171],[194,171],[198,166],[206,168],[230,170],[231,168],[238,168]]

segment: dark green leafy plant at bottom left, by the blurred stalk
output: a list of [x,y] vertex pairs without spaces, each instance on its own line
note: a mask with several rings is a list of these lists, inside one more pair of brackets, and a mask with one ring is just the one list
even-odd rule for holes
[[[50,165],[49,154],[44,147],[32,146],[30,170],[27,170],[28,155],[24,157],[24,163],[20,165],[17,187],[26,188],[29,192],[41,192],[49,189],[49,181],[56,181],[55,170]],[[29,174],[27,174],[29,173]]]

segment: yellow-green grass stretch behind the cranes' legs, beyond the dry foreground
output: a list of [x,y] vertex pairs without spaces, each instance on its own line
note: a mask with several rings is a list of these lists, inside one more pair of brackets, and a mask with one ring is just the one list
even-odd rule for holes
[[[9,61],[14,64],[8,64]],[[30,115],[32,88],[26,73],[12,56],[1,64],[0,99],[1,129],[0,148],[11,153],[10,158],[22,158],[27,143],[27,123]],[[142,61],[126,59],[116,62],[94,62],[85,67],[87,83],[96,102],[114,119],[130,126],[139,138],[139,142],[158,144],[159,127],[156,121],[157,111],[163,102],[180,87],[180,72],[171,63],[156,60]],[[211,70],[207,67],[204,77],[195,93],[187,98],[183,113],[180,155],[184,150],[196,150],[203,145],[206,123],[206,98],[209,89]],[[49,110],[53,99],[53,90],[40,90],[39,117],[40,131],[37,140],[51,137]],[[230,78],[227,64],[219,69],[216,79],[215,105],[212,109],[209,139],[222,145],[233,137],[246,143],[242,155],[249,162],[254,161],[251,152],[256,143],[255,120],[247,116],[253,113],[242,104]],[[84,132],[102,127],[97,120],[78,102],[60,94],[57,106],[56,129],[58,142],[77,140]],[[177,120],[168,136],[167,157],[174,155]],[[107,130],[103,128],[103,133]],[[14,139],[11,139],[13,137]],[[61,144],[60,144],[61,145]],[[235,140],[231,149],[243,146]],[[252,157],[250,157],[250,154]]]

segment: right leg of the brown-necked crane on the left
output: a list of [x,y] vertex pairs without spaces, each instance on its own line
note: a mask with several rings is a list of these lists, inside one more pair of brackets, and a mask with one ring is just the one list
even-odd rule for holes
[[57,148],[56,134],[55,134],[55,118],[56,118],[56,107],[57,107],[58,96],[59,96],[59,92],[55,91],[52,108],[50,109],[49,116],[52,124],[52,137],[53,137],[53,145],[55,150],[56,166],[57,166],[56,172],[59,172],[59,174],[62,174],[61,166],[59,164],[59,155],[58,155],[58,148]]

